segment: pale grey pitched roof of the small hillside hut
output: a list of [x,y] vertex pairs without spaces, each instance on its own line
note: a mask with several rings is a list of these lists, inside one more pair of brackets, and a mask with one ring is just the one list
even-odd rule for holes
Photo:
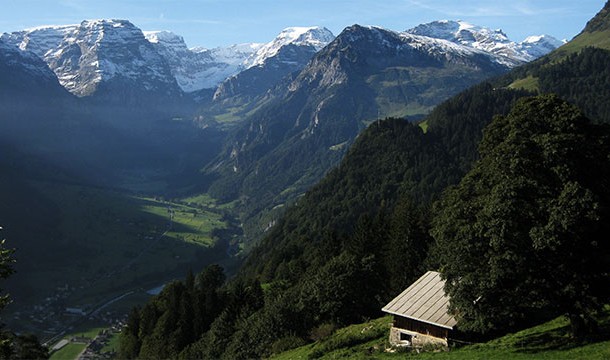
[[449,297],[445,295],[444,286],[445,281],[438,272],[428,271],[382,310],[392,315],[453,329],[457,322],[447,313]]

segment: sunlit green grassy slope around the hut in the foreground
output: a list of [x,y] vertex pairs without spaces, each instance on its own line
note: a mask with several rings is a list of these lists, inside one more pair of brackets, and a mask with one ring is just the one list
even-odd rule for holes
[[600,336],[588,341],[570,337],[569,323],[559,317],[547,323],[508,334],[487,343],[468,345],[439,353],[389,353],[390,317],[337,330],[330,337],[290,350],[273,359],[609,359],[610,307],[601,321]]

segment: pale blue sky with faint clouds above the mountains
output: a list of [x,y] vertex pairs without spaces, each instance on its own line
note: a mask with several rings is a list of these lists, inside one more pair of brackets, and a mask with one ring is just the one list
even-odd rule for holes
[[169,30],[189,47],[268,42],[288,26],[352,24],[406,30],[433,20],[500,28],[515,41],[549,34],[571,39],[606,0],[0,0],[0,32],[84,19],[127,19]]

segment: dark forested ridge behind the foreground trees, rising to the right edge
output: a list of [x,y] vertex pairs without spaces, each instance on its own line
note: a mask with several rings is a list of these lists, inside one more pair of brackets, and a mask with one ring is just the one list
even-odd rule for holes
[[[557,93],[595,121],[610,123],[609,51],[587,48],[552,66],[530,69],[540,78],[540,89],[534,91]],[[511,76],[518,77],[519,71]],[[502,82],[506,78],[494,85]],[[396,119],[372,124],[341,165],[270,230],[248,258],[244,273],[273,278],[278,263],[289,263],[291,253],[302,257],[305,248],[316,247],[312,240],[320,234],[349,235],[362,215],[391,209],[400,198],[430,203],[457,183],[478,158],[482,130],[493,116],[507,114],[517,98],[533,94],[494,85],[475,86],[439,105],[423,123],[425,134]]]

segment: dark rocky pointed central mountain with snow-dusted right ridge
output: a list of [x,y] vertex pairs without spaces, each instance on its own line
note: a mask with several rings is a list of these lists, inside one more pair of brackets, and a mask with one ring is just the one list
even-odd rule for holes
[[255,110],[238,110],[241,123],[207,167],[218,177],[210,192],[243,199],[245,223],[252,220],[251,232],[260,232],[276,219],[263,209],[281,212],[342,158],[371,121],[420,119],[444,99],[523,63],[455,41],[348,27],[259,98]]

